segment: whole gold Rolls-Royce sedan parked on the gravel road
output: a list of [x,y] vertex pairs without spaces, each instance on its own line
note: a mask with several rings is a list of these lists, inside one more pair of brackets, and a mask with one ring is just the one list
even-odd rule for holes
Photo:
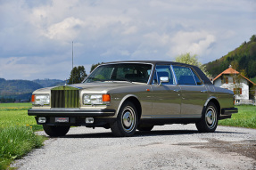
[[82,83],[38,89],[29,116],[50,136],[70,126],[111,128],[115,136],[153,125],[194,123],[212,133],[237,113],[234,93],[211,84],[198,67],[170,61],[118,61],[98,66]]

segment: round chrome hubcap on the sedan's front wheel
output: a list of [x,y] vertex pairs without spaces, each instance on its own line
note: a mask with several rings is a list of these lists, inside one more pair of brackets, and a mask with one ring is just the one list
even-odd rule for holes
[[122,126],[126,132],[131,132],[135,127],[135,112],[131,107],[126,107],[122,115]]

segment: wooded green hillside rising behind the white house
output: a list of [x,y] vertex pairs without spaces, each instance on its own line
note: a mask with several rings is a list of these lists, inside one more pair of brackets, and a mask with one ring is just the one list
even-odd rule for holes
[[207,64],[206,70],[216,77],[232,65],[232,68],[242,72],[244,76],[253,78],[256,77],[256,36],[253,35],[249,42],[244,41],[242,45],[234,51],[227,53],[219,60],[211,61]]

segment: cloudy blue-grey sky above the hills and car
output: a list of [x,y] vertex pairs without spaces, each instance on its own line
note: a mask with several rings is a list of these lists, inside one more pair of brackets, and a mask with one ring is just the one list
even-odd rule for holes
[[219,59],[256,34],[255,0],[0,0],[0,77],[66,79],[106,61]]

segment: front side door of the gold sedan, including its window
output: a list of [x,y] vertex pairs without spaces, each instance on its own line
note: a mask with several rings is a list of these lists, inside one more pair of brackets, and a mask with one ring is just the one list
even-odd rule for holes
[[[161,77],[168,77],[168,82],[161,82]],[[152,85],[152,112],[145,117],[171,118],[179,117],[181,95],[169,65],[157,65]]]

